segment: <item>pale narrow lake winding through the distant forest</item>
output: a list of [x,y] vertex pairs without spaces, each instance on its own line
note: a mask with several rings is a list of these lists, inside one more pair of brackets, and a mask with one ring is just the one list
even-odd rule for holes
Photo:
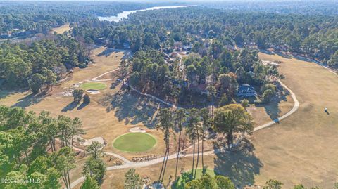
[[187,7],[187,6],[154,6],[153,8],[145,8],[145,9],[139,9],[139,10],[134,10],[134,11],[123,11],[122,13],[118,13],[118,15],[113,15],[113,16],[98,16],[100,21],[107,20],[109,22],[120,22],[123,20],[123,18],[128,18],[128,15],[131,13],[136,13],[139,11],[151,11],[151,10],[158,10],[158,9],[163,9],[163,8],[182,8],[182,7]]

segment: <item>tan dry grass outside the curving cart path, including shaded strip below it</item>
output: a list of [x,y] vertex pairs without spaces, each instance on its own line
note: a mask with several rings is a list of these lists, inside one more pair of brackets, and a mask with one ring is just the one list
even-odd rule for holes
[[[303,183],[332,188],[338,178],[338,76],[325,68],[296,59],[260,53],[263,60],[281,60],[280,72],[300,101],[299,110],[278,125],[253,134],[253,154],[205,157],[209,169],[223,171],[237,184],[264,185],[269,178],[284,183],[283,188]],[[327,107],[330,115],[324,112]],[[191,169],[191,157],[183,158],[179,171]],[[141,176],[156,180],[160,164],[137,169]],[[103,188],[123,188],[121,179],[127,170],[110,171]],[[165,183],[175,174],[175,159],[168,162]]]

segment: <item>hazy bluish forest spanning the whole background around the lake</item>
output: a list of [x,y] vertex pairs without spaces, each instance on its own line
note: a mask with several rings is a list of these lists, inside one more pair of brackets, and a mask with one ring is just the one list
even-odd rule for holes
[[[294,6],[295,3],[299,6]],[[4,37],[8,32],[14,36],[46,34],[51,28],[70,22],[75,27],[73,35],[84,37],[86,42],[100,43],[107,39],[111,46],[130,44],[134,51],[142,46],[160,48],[172,41],[194,44],[196,36],[200,36],[217,38],[227,45],[292,51],[337,66],[338,18],[337,11],[332,11],[337,4],[332,1],[258,1],[255,6],[246,1],[229,1],[219,4],[218,9],[212,3],[199,3],[213,8],[144,11],[118,23],[100,22],[97,18],[159,5],[173,4],[4,1],[0,33]]]

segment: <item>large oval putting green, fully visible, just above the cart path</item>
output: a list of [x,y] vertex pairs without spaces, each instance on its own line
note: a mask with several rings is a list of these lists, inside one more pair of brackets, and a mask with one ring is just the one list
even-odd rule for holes
[[127,133],[113,142],[114,148],[127,152],[144,152],[154,147],[156,139],[148,133]]

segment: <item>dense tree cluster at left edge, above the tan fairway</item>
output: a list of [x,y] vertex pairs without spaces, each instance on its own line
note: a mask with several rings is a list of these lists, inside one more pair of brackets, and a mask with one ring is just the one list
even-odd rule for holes
[[4,85],[30,86],[35,93],[52,86],[73,67],[87,67],[89,52],[75,39],[58,35],[25,44],[0,45],[0,78]]

